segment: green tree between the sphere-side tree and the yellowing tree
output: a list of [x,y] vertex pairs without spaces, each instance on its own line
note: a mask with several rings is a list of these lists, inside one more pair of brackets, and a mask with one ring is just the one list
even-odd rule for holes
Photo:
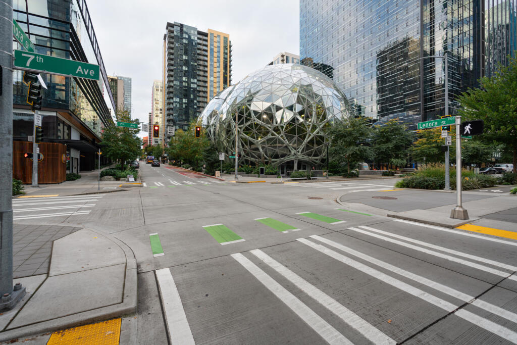
[[398,119],[392,119],[383,126],[374,126],[372,146],[375,160],[402,166],[407,160],[407,149],[415,140],[415,134],[407,130]]

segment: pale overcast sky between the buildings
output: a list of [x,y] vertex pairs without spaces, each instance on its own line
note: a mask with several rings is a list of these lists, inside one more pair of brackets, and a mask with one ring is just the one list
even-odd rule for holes
[[88,0],[87,5],[106,71],[132,78],[132,117],[143,122],[151,111],[153,80],[161,80],[167,22],[229,34],[234,83],[280,52],[299,54],[298,0]]

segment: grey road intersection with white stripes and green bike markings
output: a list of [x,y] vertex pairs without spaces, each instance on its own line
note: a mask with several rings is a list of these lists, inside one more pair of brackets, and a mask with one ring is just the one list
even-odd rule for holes
[[[131,247],[138,314],[122,331],[135,343],[517,342],[517,242],[336,202],[394,179],[237,184],[145,163],[140,173],[142,188],[40,218]],[[19,204],[36,206],[50,207]]]

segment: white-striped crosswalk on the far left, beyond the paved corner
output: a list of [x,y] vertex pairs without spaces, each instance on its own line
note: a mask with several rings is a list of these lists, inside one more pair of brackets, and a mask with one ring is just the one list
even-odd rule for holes
[[87,215],[103,197],[104,194],[91,194],[15,199],[12,201],[13,220]]

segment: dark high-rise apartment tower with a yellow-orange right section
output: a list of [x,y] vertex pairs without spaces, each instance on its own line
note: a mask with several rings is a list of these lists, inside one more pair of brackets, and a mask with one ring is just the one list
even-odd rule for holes
[[[167,23],[163,36],[165,141],[186,130],[215,95],[232,83],[230,36],[181,23]],[[171,130],[169,130],[171,127]],[[174,128],[174,129],[172,129]]]

